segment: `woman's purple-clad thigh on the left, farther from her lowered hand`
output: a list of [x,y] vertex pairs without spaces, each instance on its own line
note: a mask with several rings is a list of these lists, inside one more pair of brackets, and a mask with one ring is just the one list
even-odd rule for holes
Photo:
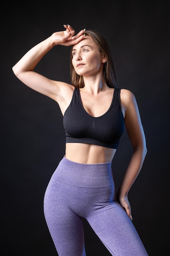
[[59,256],[86,256],[82,218],[69,207],[69,191],[61,182],[49,182],[44,216]]

